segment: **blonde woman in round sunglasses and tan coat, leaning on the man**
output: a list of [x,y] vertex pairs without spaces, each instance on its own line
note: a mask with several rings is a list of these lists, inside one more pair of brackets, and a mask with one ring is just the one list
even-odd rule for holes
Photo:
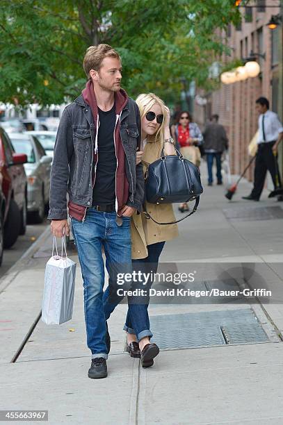
[[[141,117],[141,151],[137,154],[137,163],[143,160],[143,172],[147,166],[161,157],[164,147],[165,155],[175,155],[174,140],[170,137],[170,112],[163,101],[155,94],[140,94],[136,103]],[[158,222],[174,222],[175,215],[171,204],[155,205],[146,203],[149,214]],[[176,238],[177,224],[159,225],[144,214],[135,214],[131,219],[131,239],[133,269],[143,273],[155,273],[159,256],[165,241]],[[152,281],[147,285],[139,282],[136,288],[149,290]],[[152,332],[149,326],[148,303],[149,297],[138,299],[128,297],[129,309],[124,331],[127,332],[127,351],[131,357],[140,357],[143,367],[150,367],[154,357],[159,353],[156,344],[150,344]]]

